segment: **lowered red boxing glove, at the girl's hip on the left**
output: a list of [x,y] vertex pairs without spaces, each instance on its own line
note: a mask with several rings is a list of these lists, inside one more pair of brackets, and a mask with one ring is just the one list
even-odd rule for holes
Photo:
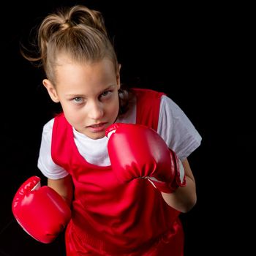
[[26,233],[45,244],[52,242],[71,218],[61,195],[48,186],[41,187],[37,176],[20,186],[12,200],[12,213]]

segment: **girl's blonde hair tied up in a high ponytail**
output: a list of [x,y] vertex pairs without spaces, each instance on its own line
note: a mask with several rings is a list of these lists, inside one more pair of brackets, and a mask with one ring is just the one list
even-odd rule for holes
[[21,50],[23,57],[43,67],[54,84],[58,56],[64,53],[72,61],[93,63],[109,59],[118,72],[118,61],[108,38],[101,12],[83,5],[62,7],[45,17],[37,31],[37,55]]

